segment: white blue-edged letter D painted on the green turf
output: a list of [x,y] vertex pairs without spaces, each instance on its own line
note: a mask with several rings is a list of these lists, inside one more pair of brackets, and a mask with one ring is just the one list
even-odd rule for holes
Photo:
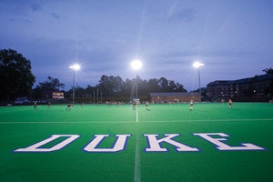
[[[66,138],[66,140],[60,142],[59,144],[56,144],[54,147],[39,148],[44,146],[45,144],[48,144],[56,140],[59,137],[68,137],[68,138]],[[63,147],[66,147],[69,143],[73,142],[78,137],[79,137],[78,135],[52,135],[49,138],[41,142],[38,142],[35,145],[32,145],[30,147],[16,149],[15,152],[52,152],[52,151],[60,150]]]

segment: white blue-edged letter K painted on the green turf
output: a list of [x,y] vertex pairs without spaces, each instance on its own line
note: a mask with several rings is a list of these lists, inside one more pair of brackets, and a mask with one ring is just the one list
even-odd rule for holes
[[174,147],[177,147],[176,150],[181,151],[199,151],[196,147],[187,147],[184,144],[178,143],[177,141],[172,140],[171,138],[179,136],[179,134],[164,134],[161,139],[157,139],[158,135],[144,135],[147,136],[149,147],[145,150],[147,152],[166,152],[167,148],[160,147],[160,143],[166,142]]

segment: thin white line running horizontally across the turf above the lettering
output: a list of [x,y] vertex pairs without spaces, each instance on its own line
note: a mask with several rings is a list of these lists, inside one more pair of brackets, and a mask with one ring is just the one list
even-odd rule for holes
[[[184,123],[184,122],[237,122],[237,121],[273,121],[272,119],[200,119],[200,120],[157,120],[157,121],[143,121],[142,123]],[[137,121],[138,122],[138,121]],[[133,123],[133,121],[23,121],[23,122],[1,122],[0,125],[8,124],[111,124],[111,123]]]

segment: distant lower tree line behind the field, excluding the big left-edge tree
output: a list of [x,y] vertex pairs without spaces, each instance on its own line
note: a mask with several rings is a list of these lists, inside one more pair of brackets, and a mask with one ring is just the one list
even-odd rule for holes
[[[167,80],[165,77],[159,79],[153,78],[143,80],[139,76],[133,79],[124,81],[120,76],[101,76],[96,86],[76,86],[76,101],[88,102],[105,102],[105,101],[124,101],[127,102],[132,97],[132,89],[137,83],[138,96],[142,100],[149,100],[150,92],[187,92],[183,85]],[[32,91],[32,96],[35,99],[50,98],[52,92],[64,89],[57,78],[47,77],[42,83],[39,83]],[[73,89],[65,92],[66,98],[72,96]]]

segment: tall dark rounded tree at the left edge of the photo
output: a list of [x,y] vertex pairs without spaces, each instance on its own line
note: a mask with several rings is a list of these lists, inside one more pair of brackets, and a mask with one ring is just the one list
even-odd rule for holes
[[12,49],[0,50],[0,99],[11,100],[18,96],[30,96],[35,83],[31,63]]

